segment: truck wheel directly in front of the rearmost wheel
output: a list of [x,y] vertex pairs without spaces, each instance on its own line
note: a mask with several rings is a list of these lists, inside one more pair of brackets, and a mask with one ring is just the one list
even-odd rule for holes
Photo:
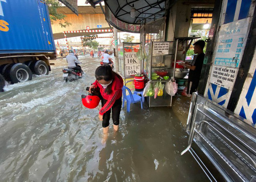
[[32,80],[32,72],[27,65],[16,63],[10,69],[10,80],[12,83]]

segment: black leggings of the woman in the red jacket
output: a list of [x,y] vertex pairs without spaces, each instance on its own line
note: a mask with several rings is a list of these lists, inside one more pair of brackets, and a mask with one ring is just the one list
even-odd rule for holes
[[[102,99],[101,100],[101,105],[102,107],[107,103],[107,100]],[[112,119],[113,119],[113,124],[114,125],[119,125],[119,116],[121,112],[121,107],[122,107],[122,97],[114,103],[114,105],[111,107],[112,109]],[[103,121],[102,121],[102,127],[106,128],[109,126],[109,120],[110,120],[110,113],[111,109],[109,111],[105,112],[103,115]]]

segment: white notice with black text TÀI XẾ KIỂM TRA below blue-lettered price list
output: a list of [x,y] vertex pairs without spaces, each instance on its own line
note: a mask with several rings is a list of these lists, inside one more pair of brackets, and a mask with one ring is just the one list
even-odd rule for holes
[[237,68],[213,65],[211,83],[225,88],[232,88],[237,71]]

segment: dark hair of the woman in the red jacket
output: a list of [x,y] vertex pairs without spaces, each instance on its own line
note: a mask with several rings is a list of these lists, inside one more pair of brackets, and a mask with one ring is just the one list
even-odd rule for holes
[[105,80],[105,81],[112,80],[112,83],[110,85],[108,85],[107,88],[105,88],[105,93],[107,93],[107,94],[111,94],[111,92],[112,92],[111,87],[114,82],[115,75],[117,75],[117,74],[114,71],[112,71],[112,68],[109,65],[99,66],[95,70],[96,80],[98,80],[98,81],[99,80]]

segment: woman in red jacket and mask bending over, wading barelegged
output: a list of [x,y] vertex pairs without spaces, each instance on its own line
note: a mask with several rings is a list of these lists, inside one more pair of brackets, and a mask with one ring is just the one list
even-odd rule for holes
[[99,112],[99,119],[102,121],[106,142],[111,109],[114,131],[118,131],[119,116],[122,107],[123,79],[117,73],[112,71],[112,68],[109,65],[99,66],[95,71],[95,77],[96,81],[90,86],[89,92],[92,92],[92,88],[100,88],[102,108]]

